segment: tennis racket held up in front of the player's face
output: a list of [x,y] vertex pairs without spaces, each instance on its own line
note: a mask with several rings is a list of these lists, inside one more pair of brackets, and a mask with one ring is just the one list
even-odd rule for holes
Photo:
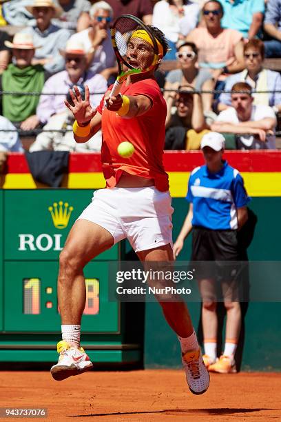
[[[141,34],[141,38],[137,37],[138,34]],[[155,68],[158,61],[158,46],[149,27],[132,14],[123,14],[116,19],[111,30],[111,37],[118,63],[118,76],[110,92],[110,97],[113,97],[120,92],[123,81],[129,75],[149,72]],[[141,54],[138,54],[136,64],[134,50],[138,49],[141,49]],[[124,70],[124,65],[127,70]]]

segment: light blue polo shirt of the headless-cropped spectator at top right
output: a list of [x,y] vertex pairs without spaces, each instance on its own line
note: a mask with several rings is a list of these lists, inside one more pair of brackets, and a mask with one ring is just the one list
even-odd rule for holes
[[220,0],[224,14],[220,21],[222,28],[236,29],[248,37],[249,28],[253,20],[253,13],[264,13],[264,0]]

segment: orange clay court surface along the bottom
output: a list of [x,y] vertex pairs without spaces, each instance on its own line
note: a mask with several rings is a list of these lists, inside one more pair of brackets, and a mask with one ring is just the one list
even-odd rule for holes
[[194,396],[180,370],[90,372],[60,382],[48,372],[0,372],[0,407],[48,408],[48,421],[57,422],[281,421],[281,374],[214,374],[207,393]]

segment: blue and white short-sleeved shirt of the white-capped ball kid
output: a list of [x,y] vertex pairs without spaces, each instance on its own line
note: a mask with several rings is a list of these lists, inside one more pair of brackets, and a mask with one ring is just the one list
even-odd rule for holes
[[250,201],[238,170],[227,161],[217,173],[209,172],[207,165],[195,168],[186,199],[193,203],[192,225],[211,230],[236,230],[237,208]]

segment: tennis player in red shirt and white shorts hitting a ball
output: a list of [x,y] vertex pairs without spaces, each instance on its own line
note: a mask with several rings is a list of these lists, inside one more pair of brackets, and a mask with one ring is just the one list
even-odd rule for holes
[[[167,52],[163,32],[149,27],[158,45],[158,61]],[[154,48],[145,30],[136,30],[129,39],[127,60],[136,68],[147,68]],[[101,160],[106,188],[96,190],[92,203],[74,223],[60,255],[58,299],[63,341],[58,343],[59,362],[52,366],[54,379],[61,381],[92,368],[80,346],[81,316],[85,308],[84,266],[101,252],[127,238],[144,264],[173,261],[171,237],[171,197],[168,176],[163,168],[165,117],[163,95],[154,79],[154,69],[131,75],[121,94],[107,92],[92,110],[89,90],[85,100],[78,89],[70,91],[74,106],[65,102],[76,119],[76,142],[87,142],[103,131]],[[104,107],[104,104],[107,107]],[[134,145],[131,158],[118,155],[123,141]],[[209,386],[209,373],[193,325],[183,301],[160,301],[167,323],[178,335],[189,389],[202,394]]]

